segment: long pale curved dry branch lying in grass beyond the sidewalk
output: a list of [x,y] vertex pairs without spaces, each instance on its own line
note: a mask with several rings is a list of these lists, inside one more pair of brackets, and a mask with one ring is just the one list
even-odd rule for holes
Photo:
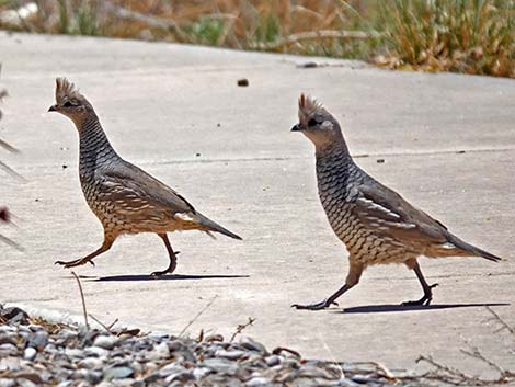
[[278,39],[273,43],[256,43],[251,45],[251,48],[256,49],[278,49],[284,46],[289,46],[291,44],[306,42],[306,41],[316,41],[316,39],[327,39],[327,38],[340,38],[340,39],[370,39],[380,37],[376,31],[336,31],[336,30],[320,30],[320,31],[308,31],[299,32],[297,34],[291,34],[284,38]]

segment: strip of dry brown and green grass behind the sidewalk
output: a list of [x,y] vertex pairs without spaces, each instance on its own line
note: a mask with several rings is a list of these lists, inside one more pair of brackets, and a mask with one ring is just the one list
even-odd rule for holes
[[[515,77],[514,0],[35,2],[35,14],[9,27],[358,58],[389,68]],[[0,10],[16,9],[20,3],[21,0],[0,0]]]

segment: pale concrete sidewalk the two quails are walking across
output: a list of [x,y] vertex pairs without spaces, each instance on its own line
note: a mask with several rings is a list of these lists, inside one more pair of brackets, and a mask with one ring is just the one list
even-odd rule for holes
[[[268,346],[307,357],[415,367],[420,354],[489,373],[460,350],[467,342],[515,367],[513,338],[495,332],[489,306],[515,325],[515,82],[457,75],[392,72],[313,60],[159,43],[0,34],[0,86],[9,90],[0,137],[22,150],[1,156],[26,182],[2,178],[0,203],[20,217],[2,227],[25,253],[0,246],[0,300],[81,314],[77,284],[57,259],[100,246],[101,227],[78,181],[78,138],[46,114],[54,79],[67,76],[90,99],[115,149],[169,183],[243,242],[171,235],[178,275],[149,280],[167,253],[152,235],[123,238],[83,276],[89,311],[110,323],[179,333],[245,330]],[[248,78],[250,87],[237,87]],[[438,282],[430,308],[403,266],[368,270],[341,308],[297,311],[346,274],[346,252],[318,201],[313,149],[289,133],[301,91],[342,121],[357,162],[465,240],[512,260],[421,261]],[[385,162],[377,162],[378,159]],[[66,168],[64,168],[66,167]],[[343,308],[343,309],[342,309]]]

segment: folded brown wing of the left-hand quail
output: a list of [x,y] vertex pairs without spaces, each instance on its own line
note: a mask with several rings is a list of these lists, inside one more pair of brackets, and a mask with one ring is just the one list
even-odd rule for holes
[[178,192],[127,161],[102,168],[98,173],[112,201],[133,203],[135,208],[149,205],[172,214],[196,213]]

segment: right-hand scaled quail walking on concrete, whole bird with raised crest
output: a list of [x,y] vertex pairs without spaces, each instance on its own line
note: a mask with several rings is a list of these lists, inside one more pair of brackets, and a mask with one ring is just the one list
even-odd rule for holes
[[347,249],[348,273],[343,286],[328,298],[293,307],[321,310],[337,305],[336,299],[358,284],[366,268],[386,263],[405,264],[422,285],[422,298],[402,305],[427,306],[438,284],[426,282],[419,257],[502,260],[459,239],[444,224],[359,168],[351,157],[340,123],[314,98],[300,95],[298,117],[291,132],[300,132],[314,145],[320,201],[334,234]]

